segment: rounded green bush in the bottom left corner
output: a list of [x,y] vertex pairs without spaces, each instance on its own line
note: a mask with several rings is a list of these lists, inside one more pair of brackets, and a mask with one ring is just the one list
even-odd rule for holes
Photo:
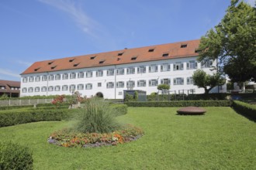
[[33,169],[31,151],[12,142],[0,142],[0,169]]

